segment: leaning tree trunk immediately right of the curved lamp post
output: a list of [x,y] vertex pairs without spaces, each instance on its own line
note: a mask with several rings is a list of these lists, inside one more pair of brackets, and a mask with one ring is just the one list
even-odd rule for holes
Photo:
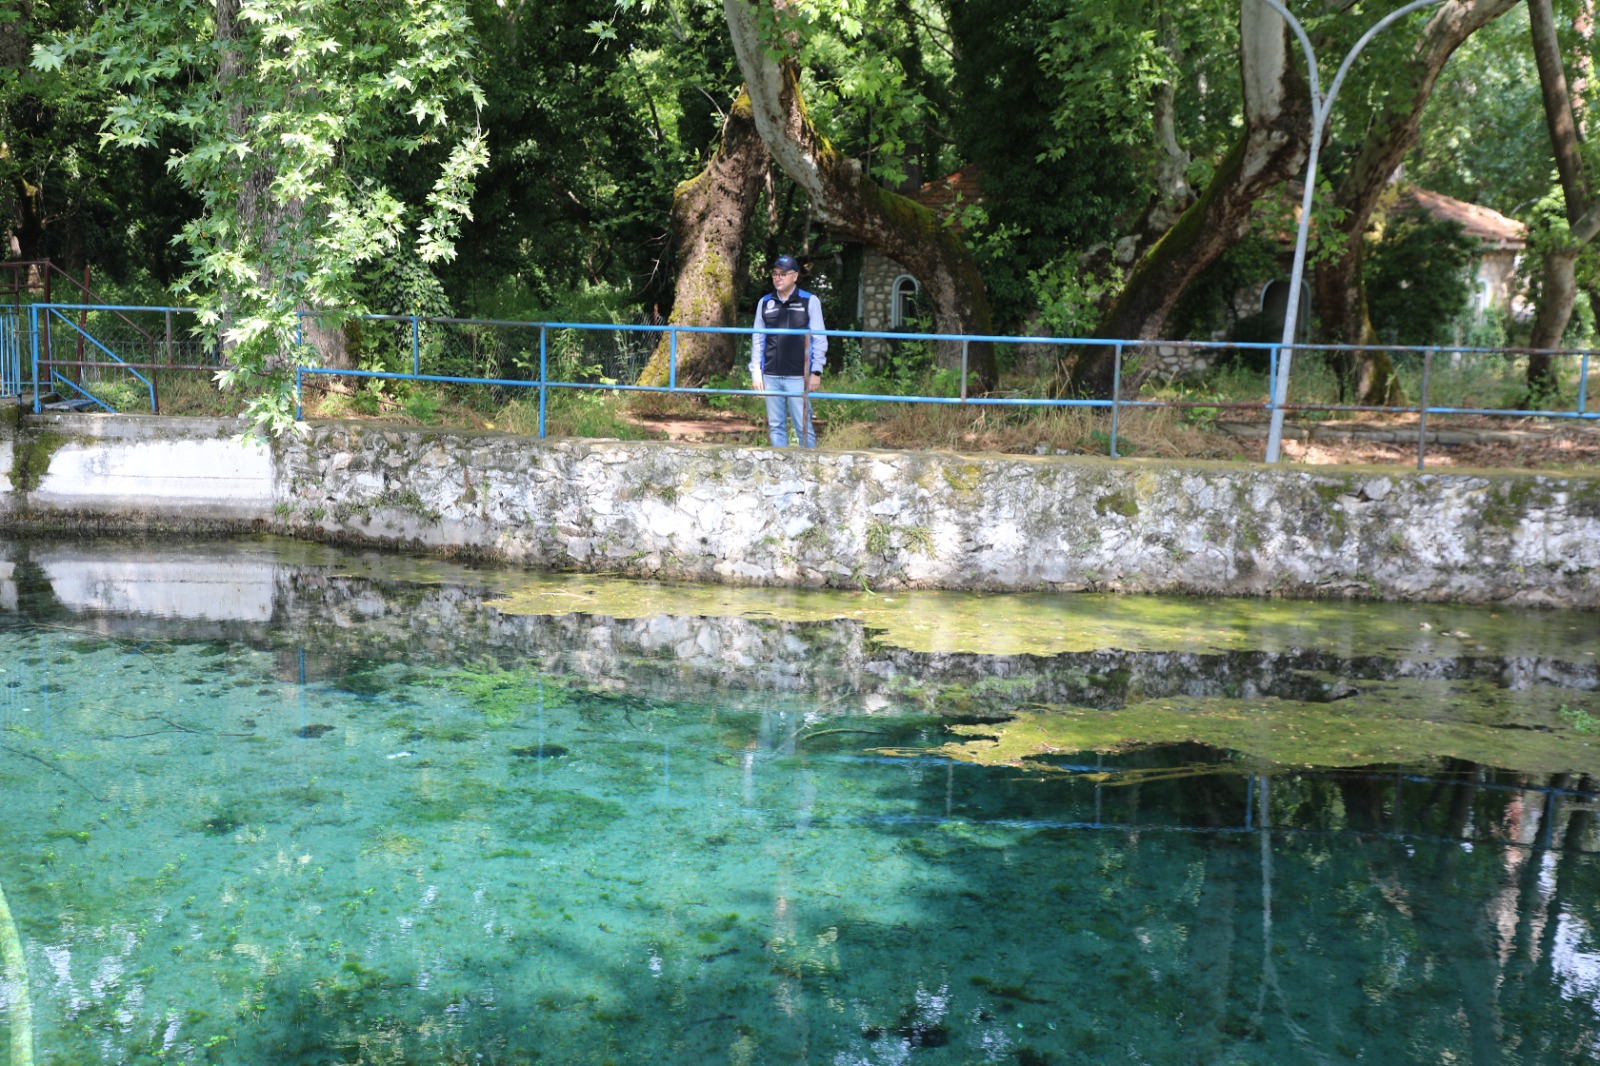
[[[1366,312],[1362,266],[1366,253],[1363,235],[1378,216],[1386,192],[1406,154],[1416,144],[1422,110],[1445,62],[1467,37],[1488,26],[1518,0],[1450,0],[1422,32],[1410,62],[1394,74],[1384,107],[1355,162],[1334,194],[1333,227],[1341,240],[1328,242],[1338,254],[1323,259],[1312,280],[1320,335],[1333,344],[1376,344]],[[1334,359],[1339,392],[1346,400],[1370,405],[1403,402],[1394,363],[1382,352],[1341,352]]]

